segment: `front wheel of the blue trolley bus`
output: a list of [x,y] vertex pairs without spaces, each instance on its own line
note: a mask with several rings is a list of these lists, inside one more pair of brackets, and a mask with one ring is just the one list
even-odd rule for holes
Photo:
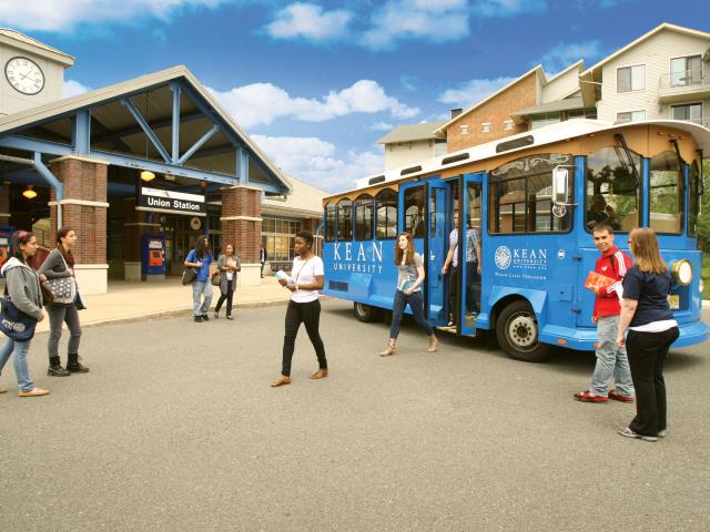
[[539,362],[550,351],[540,344],[535,313],[527,301],[513,301],[506,306],[496,321],[496,337],[506,355],[516,360]]

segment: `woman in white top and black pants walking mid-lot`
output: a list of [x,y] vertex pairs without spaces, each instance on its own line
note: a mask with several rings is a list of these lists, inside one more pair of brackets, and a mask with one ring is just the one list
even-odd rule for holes
[[281,377],[271,383],[274,388],[291,383],[291,359],[293,358],[298,327],[301,327],[302,323],[306,326],[306,332],[318,358],[318,370],[311,378],[322,379],[328,376],[325,347],[318,332],[318,321],[321,320],[318,290],[323,288],[323,260],[313,253],[313,235],[307,231],[296,233],[293,247],[296,257],[293,259],[291,279],[278,280],[281,286],[288,288],[292,294],[286,310],[286,332],[284,335]]

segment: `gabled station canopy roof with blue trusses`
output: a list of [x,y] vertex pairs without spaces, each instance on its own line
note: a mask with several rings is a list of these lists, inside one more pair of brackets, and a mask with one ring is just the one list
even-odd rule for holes
[[38,165],[64,155],[110,164],[116,168],[110,186],[126,193],[143,170],[181,188],[204,182],[211,190],[250,184],[267,195],[291,192],[281,170],[185,66],[0,117],[3,178],[44,184]]

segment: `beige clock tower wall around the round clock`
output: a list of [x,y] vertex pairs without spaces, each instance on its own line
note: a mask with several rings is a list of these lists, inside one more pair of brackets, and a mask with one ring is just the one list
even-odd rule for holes
[[[44,74],[44,88],[33,95],[14,90],[4,74],[4,66],[12,58],[23,57],[34,61]],[[12,114],[29,108],[62,99],[64,65],[42,55],[0,42],[0,115]]]

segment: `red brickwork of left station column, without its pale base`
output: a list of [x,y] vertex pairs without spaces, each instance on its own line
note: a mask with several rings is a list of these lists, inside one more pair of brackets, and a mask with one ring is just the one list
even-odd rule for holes
[[[64,200],[106,202],[106,171],[101,163],[64,158],[50,164],[50,171],[64,185]],[[57,201],[54,190],[51,200]],[[50,207],[52,232],[57,227],[57,206]],[[79,264],[106,263],[106,207],[62,205],[62,225],[77,232],[74,257]]]

